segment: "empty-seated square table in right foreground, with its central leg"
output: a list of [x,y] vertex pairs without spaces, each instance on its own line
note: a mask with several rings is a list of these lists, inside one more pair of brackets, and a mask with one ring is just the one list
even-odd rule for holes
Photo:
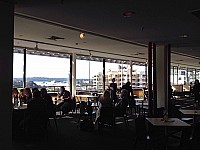
[[[168,118],[167,121],[163,121],[163,118],[146,118],[146,120],[151,123],[154,127],[164,127],[164,138],[167,143],[168,132],[167,127],[190,127],[191,125],[178,119],[178,118]],[[167,146],[165,145],[165,149]]]

